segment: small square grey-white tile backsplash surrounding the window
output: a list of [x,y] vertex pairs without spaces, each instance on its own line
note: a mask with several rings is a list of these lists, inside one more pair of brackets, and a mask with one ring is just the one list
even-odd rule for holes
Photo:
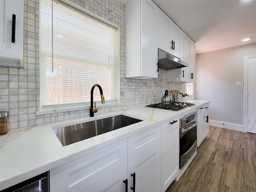
[[[117,0],[70,0],[120,27],[120,102],[102,107],[98,113],[146,106],[160,102],[164,91],[183,84],[168,83],[166,70],[160,69],[157,79],[124,78],[125,6]],[[48,122],[89,116],[89,110],[77,110],[36,116],[40,104],[39,78],[39,1],[24,0],[24,68],[0,67],[0,111],[9,111],[9,128],[22,128]],[[124,92],[135,92],[134,99],[124,99]]]

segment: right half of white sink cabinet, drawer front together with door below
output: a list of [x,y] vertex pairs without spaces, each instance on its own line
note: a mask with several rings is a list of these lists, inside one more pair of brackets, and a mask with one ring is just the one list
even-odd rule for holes
[[160,125],[128,137],[128,191],[160,191],[160,139]]

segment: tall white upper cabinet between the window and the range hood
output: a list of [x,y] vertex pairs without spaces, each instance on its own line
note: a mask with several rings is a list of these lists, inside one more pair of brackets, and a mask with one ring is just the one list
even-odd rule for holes
[[158,77],[158,7],[151,0],[125,6],[125,77]]

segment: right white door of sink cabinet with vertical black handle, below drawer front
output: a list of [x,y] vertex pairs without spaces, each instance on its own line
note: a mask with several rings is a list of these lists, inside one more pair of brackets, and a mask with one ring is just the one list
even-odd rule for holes
[[[160,191],[160,142],[128,162],[128,189],[136,192]],[[133,176],[135,173],[135,183]]]

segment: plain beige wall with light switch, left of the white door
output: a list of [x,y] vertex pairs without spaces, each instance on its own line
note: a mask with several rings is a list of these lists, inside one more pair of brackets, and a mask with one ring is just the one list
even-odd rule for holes
[[244,125],[244,56],[256,43],[196,55],[196,99],[210,100],[210,119]]

